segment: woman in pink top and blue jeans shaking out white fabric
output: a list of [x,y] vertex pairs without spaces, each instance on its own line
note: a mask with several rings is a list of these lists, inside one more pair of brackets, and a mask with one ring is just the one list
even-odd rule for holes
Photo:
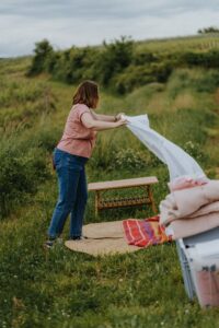
[[97,115],[99,89],[93,81],[84,81],[73,96],[61,140],[54,152],[58,175],[59,198],[48,229],[47,247],[60,236],[66,219],[70,218],[71,239],[82,238],[82,223],[88,199],[85,164],[92,154],[96,131],[118,128],[127,121],[116,116]]

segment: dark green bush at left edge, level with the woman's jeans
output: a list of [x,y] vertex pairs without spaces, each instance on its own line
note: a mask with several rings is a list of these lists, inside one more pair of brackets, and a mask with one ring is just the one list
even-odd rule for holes
[[49,176],[46,153],[41,149],[25,149],[15,138],[1,142],[0,151],[0,219],[9,215],[15,206],[24,203],[27,195]]

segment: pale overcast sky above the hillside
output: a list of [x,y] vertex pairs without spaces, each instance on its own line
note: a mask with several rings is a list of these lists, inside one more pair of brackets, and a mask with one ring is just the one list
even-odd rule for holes
[[0,0],[0,57],[33,54],[43,38],[68,48],[122,35],[193,35],[212,25],[219,27],[219,0]]

